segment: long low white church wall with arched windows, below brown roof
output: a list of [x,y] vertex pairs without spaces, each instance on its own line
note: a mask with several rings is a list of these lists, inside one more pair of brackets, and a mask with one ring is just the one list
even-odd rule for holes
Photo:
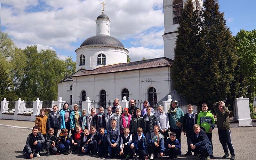
[[[69,100],[67,97],[68,86],[73,84],[73,100],[81,100],[81,92],[84,90],[90,100],[100,100],[100,91],[104,89],[107,100],[121,98],[121,91],[124,88],[129,90],[129,99],[144,100],[147,98],[147,91],[154,87],[157,93],[157,100],[162,99],[171,92],[170,67],[151,68],[127,72],[73,77],[73,82],[58,84],[58,97]],[[141,82],[141,81],[149,82]],[[66,99],[64,98],[66,97]]]

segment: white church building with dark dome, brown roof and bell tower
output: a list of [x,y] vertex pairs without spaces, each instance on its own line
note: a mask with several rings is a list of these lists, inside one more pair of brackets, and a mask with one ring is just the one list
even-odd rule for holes
[[[186,0],[163,0],[164,57],[127,63],[128,50],[110,36],[110,19],[103,12],[96,19],[96,36],[87,38],[76,49],[76,72],[58,83],[58,97],[66,101],[102,102],[124,96],[127,100],[166,100],[179,96],[172,86],[171,68],[177,27]],[[203,0],[194,0],[200,10]],[[176,95],[175,95],[176,94]],[[104,106],[106,107],[106,106]]]

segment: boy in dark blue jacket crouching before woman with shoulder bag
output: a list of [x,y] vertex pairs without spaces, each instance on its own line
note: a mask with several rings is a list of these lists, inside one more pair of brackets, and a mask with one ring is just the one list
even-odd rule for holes
[[181,154],[180,142],[176,139],[176,133],[171,132],[170,138],[165,143],[166,155],[169,155],[170,159],[177,159],[177,155]]

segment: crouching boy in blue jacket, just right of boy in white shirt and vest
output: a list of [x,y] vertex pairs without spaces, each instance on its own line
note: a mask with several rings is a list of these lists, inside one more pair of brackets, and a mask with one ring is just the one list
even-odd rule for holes
[[137,154],[139,154],[140,158],[145,159],[147,154],[147,139],[142,133],[143,129],[139,127],[137,129],[137,135],[133,137],[132,139],[132,154],[134,156],[134,160],[138,160]]

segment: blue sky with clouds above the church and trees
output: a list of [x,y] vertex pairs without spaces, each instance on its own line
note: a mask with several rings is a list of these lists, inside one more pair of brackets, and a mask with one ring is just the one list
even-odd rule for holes
[[[19,48],[37,45],[50,48],[63,59],[96,34],[95,19],[101,14],[102,0],[2,0],[1,30],[7,32]],[[118,3],[117,3],[118,2]],[[245,3],[246,2],[246,3]],[[142,57],[164,56],[162,0],[105,0],[110,36],[129,50],[132,61]],[[255,0],[219,0],[227,26],[235,36],[240,29],[255,29]]]

